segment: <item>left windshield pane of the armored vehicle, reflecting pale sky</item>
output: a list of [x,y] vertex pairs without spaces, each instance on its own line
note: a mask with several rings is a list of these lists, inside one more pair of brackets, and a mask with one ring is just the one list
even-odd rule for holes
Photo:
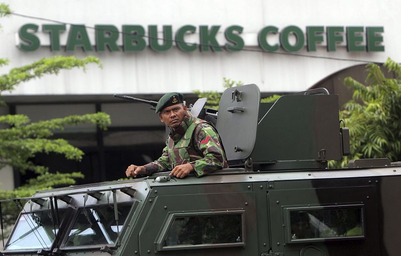
[[[60,221],[64,211],[59,211]],[[56,227],[56,233],[58,227]],[[6,250],[50,249],[55,238],[55,229],[50,212],[23,213],[17,221],[14,232],[5,247]]]

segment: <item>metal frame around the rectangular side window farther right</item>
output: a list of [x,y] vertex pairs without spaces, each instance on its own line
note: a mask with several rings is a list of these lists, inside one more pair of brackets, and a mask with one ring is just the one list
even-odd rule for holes
[[[331,209],[360,209],[360,223],[362,235],[357,236],[338,236],[338,237],[322,237],[322,238],[304,238],[292,239],[291,235],[291,212],[292,211],[311,211],[311,210],[331,210]],[[283,209],[284,226],[285,226],[285,240],[287,243],[305,243],[305,242],[323,242],[323,241],[341,241],[341,240],[355,240],[364,239],[366,236],[365,217],[364,217],[364,204],[346,204],[346,205],[328,205],[328,206],[302,206],[302,207],[285,207]]]

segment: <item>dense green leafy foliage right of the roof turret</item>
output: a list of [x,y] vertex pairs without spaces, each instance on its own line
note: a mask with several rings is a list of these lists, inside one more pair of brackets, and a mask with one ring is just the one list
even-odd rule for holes
[[329,163],[330,167],[346,167],[350,159],[401,160],[401,65],[387,59],[384,67],[397,78],[385,78],[374,63],[366,65],[365,82],[370,85],[345,78],[345,85],[354,92],[340,118],[349,127],[351,155]]

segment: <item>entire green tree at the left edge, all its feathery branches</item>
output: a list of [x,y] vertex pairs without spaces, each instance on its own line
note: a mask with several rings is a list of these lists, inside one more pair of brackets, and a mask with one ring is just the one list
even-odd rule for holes
[[[0,17],[8,16],[10,13],[7,5],[0,4]],[[0,66],[8,63],[8,59],[0,58]],[[13,68],[8,74],[0,76],[0,94],[3,91],[12,91],[18,84],[28,80],[47,74],[57,75],[63,69],[82,68],[85,71],[85,67],[90,63],[101,67],[100,60],[91,56],[84,59],[55,56]],[[7,129],[0,129],[0,169],[9,165],[20,172],[34,172],[37,175],[36,178],[30,179],[27,184],[13,191],[0,191],[0,200],[2,200],[29,197],[37,190],[75,184],[75,179],[83,177],[81,173],[49,173],[47,167],[35,165],[32,158],[38,153],[57,153],[64,155],[67,159],[80,161],[84,153],[64,139],[52,139],[53,132],[78,123],[91,123],[105,130],[110,124],[110,117],[106,113],[98,112],[30,122],[26,115],[8,114],[0,116],[0,123],[9,125]],[[12,203],[3,203],[2,212],[5,224],[13,224],[18,214],[17,207]]]

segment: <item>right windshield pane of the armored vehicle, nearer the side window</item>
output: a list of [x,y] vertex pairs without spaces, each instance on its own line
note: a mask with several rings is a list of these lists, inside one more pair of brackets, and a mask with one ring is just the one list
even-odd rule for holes
[[[132,204],[118,205],[118,230],[121,231]],[[114,244],[117,225],[111,205],[79,209],[78,217],[64,246]]]

